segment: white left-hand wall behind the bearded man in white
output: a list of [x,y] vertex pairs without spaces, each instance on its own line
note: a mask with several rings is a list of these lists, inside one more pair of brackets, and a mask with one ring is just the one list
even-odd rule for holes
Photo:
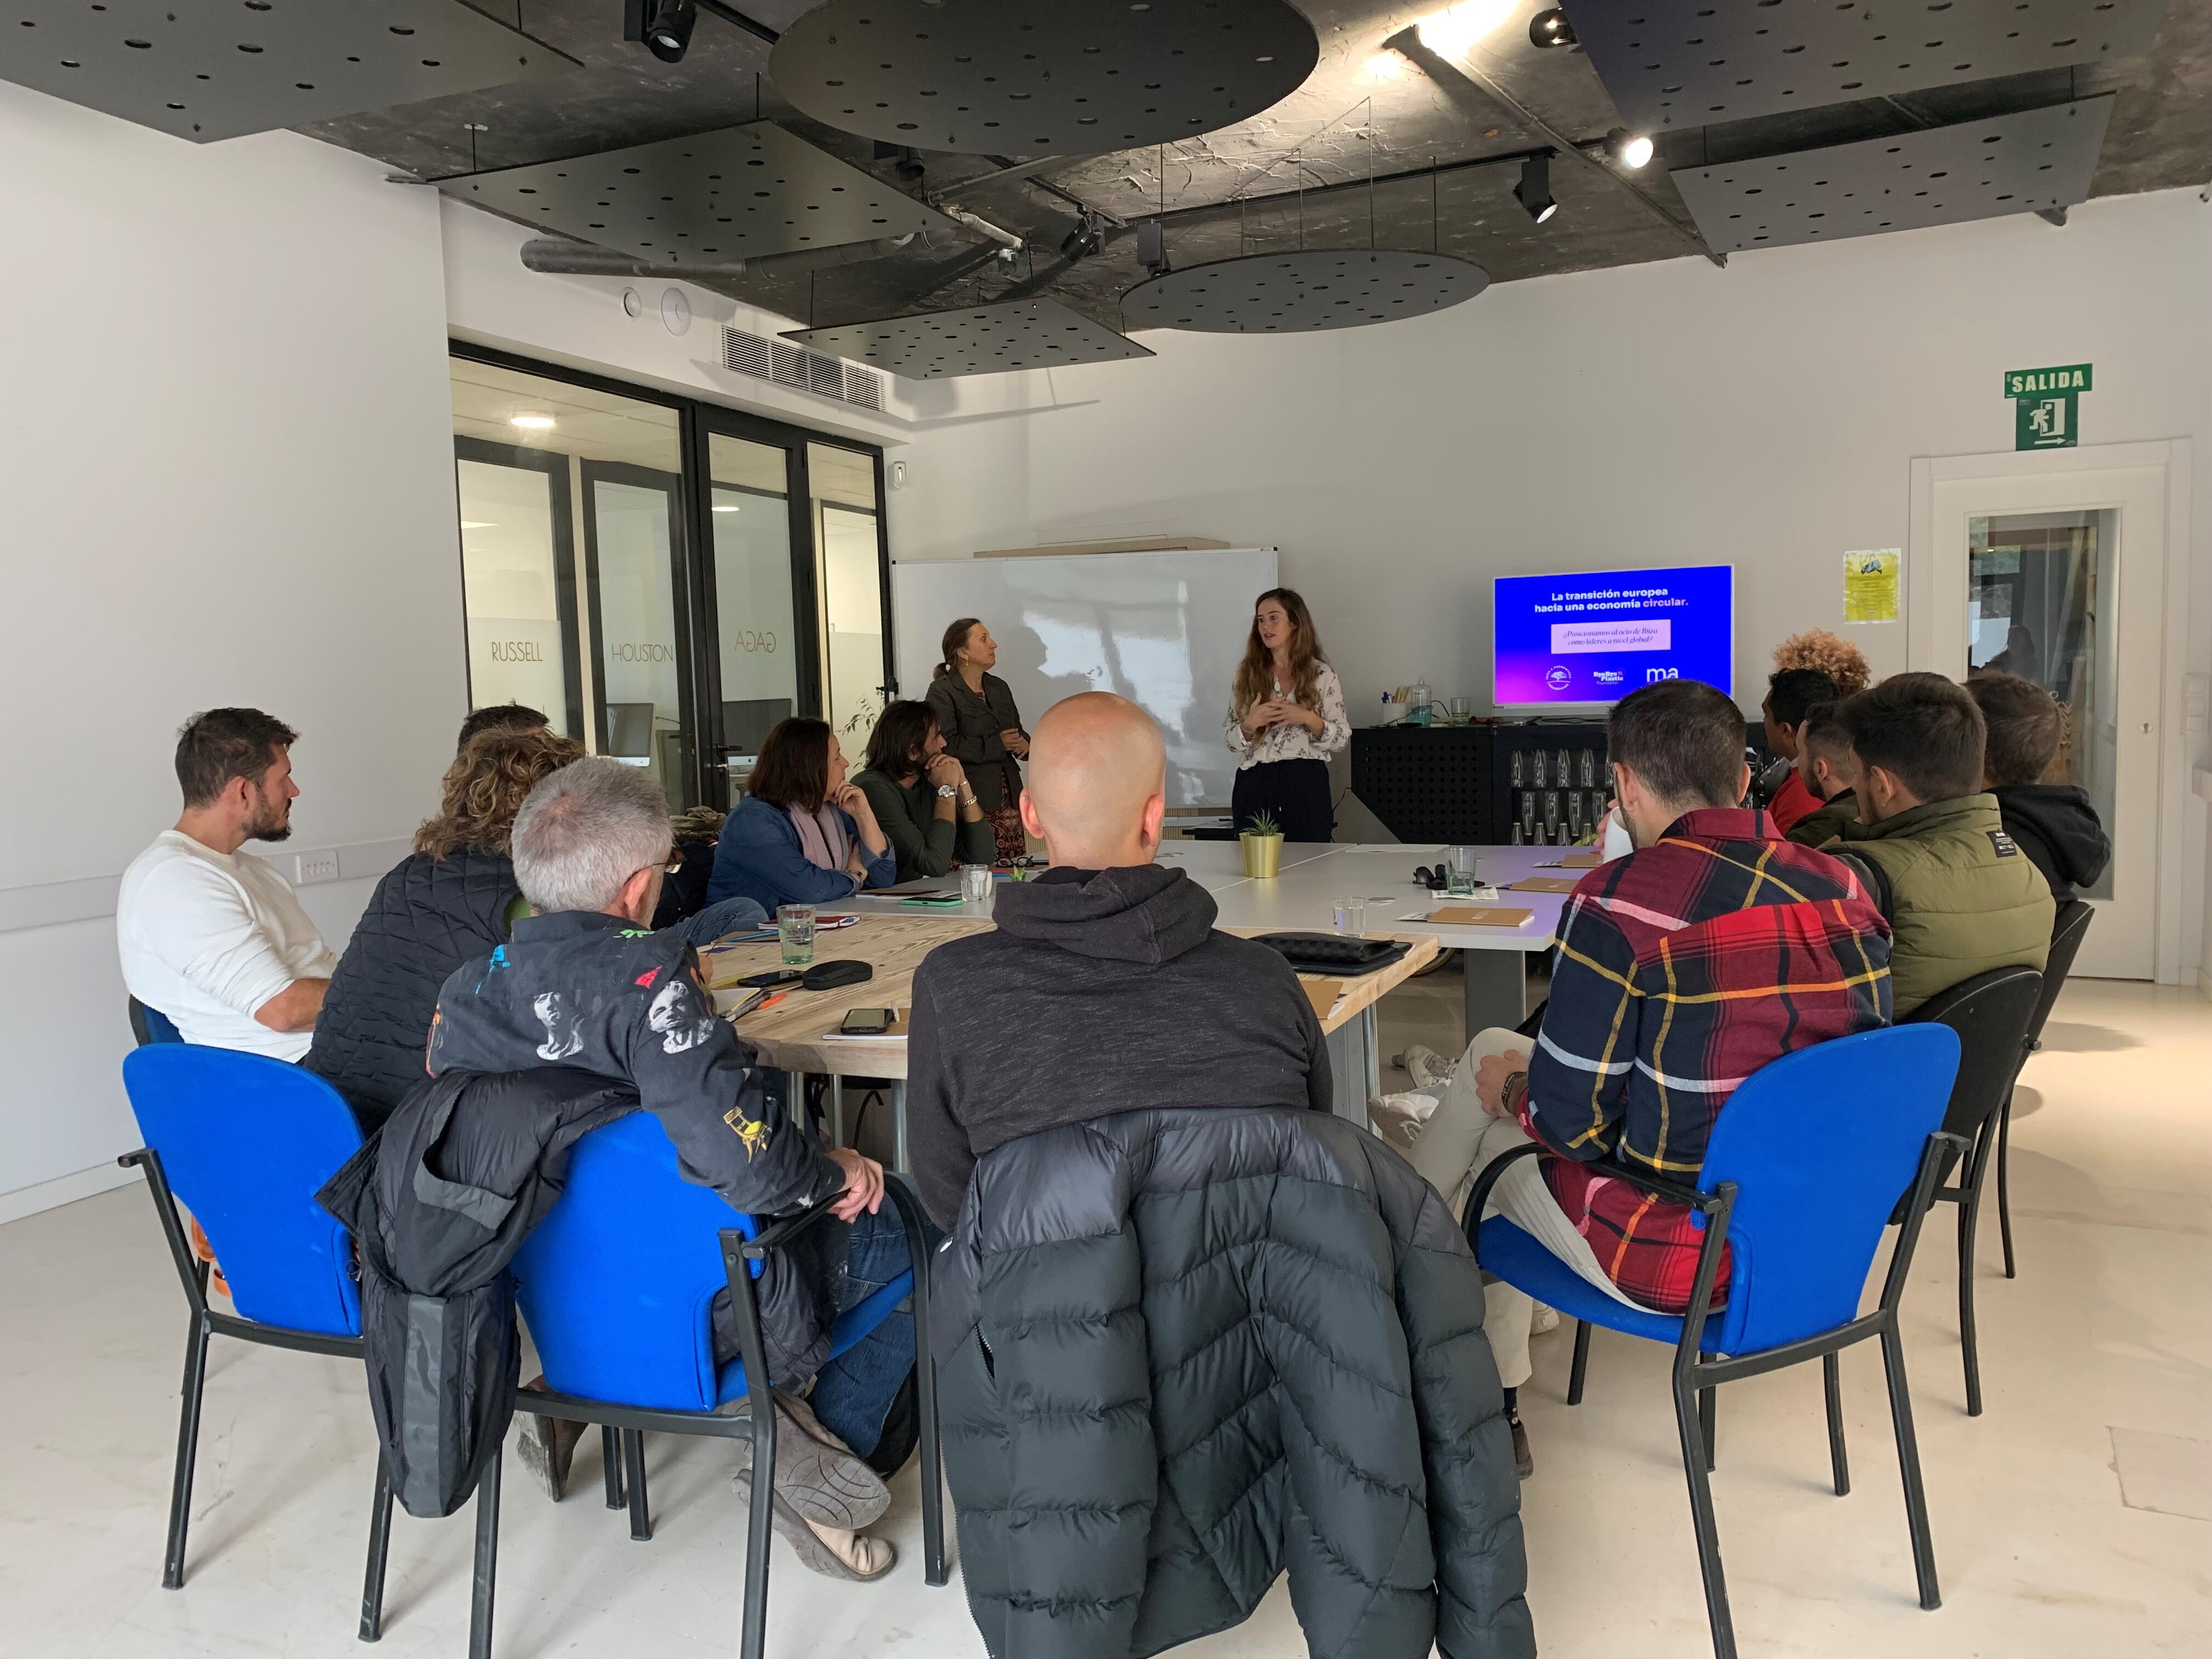
[[301,730],[292,845],[356,849],[301,894],[341,947],[467,695],[434,197],[312,139],[195,146],[11,84],[0,155],[7,1214],[137,1144],[100,909],[177,816],[179,721]]

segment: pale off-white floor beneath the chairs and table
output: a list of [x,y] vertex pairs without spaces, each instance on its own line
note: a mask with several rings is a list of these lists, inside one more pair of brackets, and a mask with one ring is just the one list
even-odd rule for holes
[[[1455,1031],[1444,975],[1394,998],[1385,1048]],[[1876,1079],[1869,1079],[1876,1086]],[[1962,1411],[1955,1252],[1929,1228],[1907,1352],[1944,1606],[1913,1601],[1871,1349],[1845,1358],[1849,1498],[1827,1491],[1814,1367],[1721,1396],[1717,1502],[1750,1657],[2212,1652],[2212,1009],[2192,991],[2068,989],[2013,1137],[2020,1281],[1984,1217],[1986,1416]],[[358,1369],[219,1345],[192,1546],[159,1588],[184,1312],[144,1190],[0,1228],[0,1655],[347,1655],[372,1433]],[[1666,1354],[1599,1336],[1568,1411],[1566,1332],[1522,1394],[1537,1639],[1548,1655],[1710,1652],[1666,1396]],[[500,1655],[734,1650],[739,1515],[728,1453],[653,1442],[657,1537],[599,1506],[597,1458],[546,1504],[509,1482]],[[2126,1482],[2126,1484],[2124,1484]],[[980,1655],[953,1588],[920,1577],[909,1473],[902,1562],[832,1586],[776,1546],[776,1655]],[[469,1517],[398,1517],[385,1650],[467,1646]],[[1303,1655],[1281,1588],[1206,1659]]]

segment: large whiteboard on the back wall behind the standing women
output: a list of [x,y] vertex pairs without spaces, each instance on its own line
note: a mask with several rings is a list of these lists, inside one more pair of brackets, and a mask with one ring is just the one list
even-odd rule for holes
[[922,697],[945,628],[982,617],[1022,723],[1062,697],[1110,690],[1168,739],[1168,805],[1228,807],[1237,752],[1221,737],[1252,602],[1274,549],[900,560],[891,566],[900,697]]

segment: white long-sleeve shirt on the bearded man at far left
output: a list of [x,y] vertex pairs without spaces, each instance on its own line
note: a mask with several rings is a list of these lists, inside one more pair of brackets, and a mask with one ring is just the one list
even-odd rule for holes
[[131,995],[175,1020],[186,1042],[274,1060],[299,1060],[314,1033],[270,1031],[254,1009],[338,964],[292,883],[250,852],[215,852],[181,830],[164,830],[124,872],[115,949]]

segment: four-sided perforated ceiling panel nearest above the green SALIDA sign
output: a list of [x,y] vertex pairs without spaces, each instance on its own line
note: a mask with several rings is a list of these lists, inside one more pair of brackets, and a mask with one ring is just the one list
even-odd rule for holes
[[1714,252],[2066,208],[2088,197],[2110,97],[1674,173]]

